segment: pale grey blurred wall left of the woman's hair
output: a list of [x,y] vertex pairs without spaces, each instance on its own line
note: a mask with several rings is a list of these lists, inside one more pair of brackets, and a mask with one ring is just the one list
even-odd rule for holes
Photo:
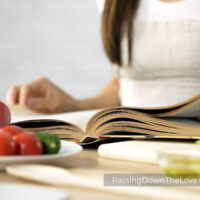
[[111,78],[95,0],[0,1],[0,99],[12,85],[46,76],[76,98]]

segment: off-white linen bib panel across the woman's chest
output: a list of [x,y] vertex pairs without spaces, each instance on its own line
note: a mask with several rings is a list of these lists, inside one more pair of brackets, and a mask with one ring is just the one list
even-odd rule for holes
[[135,23],[132,71],[136,79],[200,77],[200,20]]

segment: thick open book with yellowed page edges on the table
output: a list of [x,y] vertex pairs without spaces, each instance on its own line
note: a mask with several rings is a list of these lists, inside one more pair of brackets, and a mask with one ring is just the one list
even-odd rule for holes
[[[11,112],[14,116],[23,113],[19,107]],[[28,113],[31,117],[19,116],[12,122],[28,131],[48,131],[82,144],[106,138],[200,139],[200,94],[165,107],[112,107],[39,116]]]

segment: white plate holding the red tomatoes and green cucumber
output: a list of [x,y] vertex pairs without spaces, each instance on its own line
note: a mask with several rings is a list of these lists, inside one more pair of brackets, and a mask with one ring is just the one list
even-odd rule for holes
[[0,169],[11,164],[41,163],[79,153],[82,147],[74,142],[61,141],[61,149],[57,154],[39,156],[0,156]]

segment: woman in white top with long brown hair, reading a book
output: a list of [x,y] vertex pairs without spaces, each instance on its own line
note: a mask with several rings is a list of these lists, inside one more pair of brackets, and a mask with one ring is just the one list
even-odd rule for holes
[[190,98],[200,92],[199,10],[199,0],[106,0],[102,37],[113,80],[95,97],[77,100],[39,78],[12,87],[8,102],[57,113]]

